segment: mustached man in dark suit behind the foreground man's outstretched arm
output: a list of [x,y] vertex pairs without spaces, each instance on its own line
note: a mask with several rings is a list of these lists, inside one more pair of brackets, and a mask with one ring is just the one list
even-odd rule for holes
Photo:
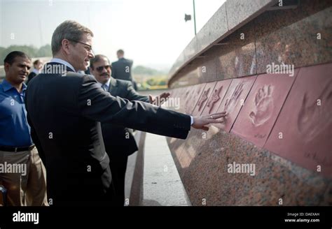
[[[169,93],[162,93],[159,98],[141,96],[134,90],[132,83],[126,80],[116,80],[111,77],[109,59],[104,55],[96,55],[90,59],[90,69],[100,87],[111,93],[112,96],[126,98],[129,101],[143,101],[155,103],[165,101]],[[161,104],[160,104],[161,105]],[[109,155],[112,179],[116,191],[116,205],[123,206],[125,201],[125,171],[127,169],[128,156],[137,151],[137,144],[131,131],[122,126],[110,123],[102,123],[102,135],[106,153]]]

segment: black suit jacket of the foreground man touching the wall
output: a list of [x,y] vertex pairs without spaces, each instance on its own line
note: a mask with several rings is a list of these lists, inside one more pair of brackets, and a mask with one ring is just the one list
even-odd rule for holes
[[98,121],[186,138],[191,118],[113,97],[91,75],[67,71],[64,77],[41,73],[31,80],[25,97],[27,119],[46,165],[53,205],[99,205],[109,200],[111,170]]

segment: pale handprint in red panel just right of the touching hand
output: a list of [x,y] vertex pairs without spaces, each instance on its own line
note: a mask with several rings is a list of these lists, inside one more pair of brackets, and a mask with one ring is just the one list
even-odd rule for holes
[[258,89],[254,101],[254,110],[249,114],[254,126],[261,126],[270,119],[273,111],[272,92],[272,85],[265,85]]

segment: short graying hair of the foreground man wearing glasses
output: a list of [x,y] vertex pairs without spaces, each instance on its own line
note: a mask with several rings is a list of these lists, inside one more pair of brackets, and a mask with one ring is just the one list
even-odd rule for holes
[[72,20],[66,20],[62,22],[57,29],[55,29],[52,36],[52,53],[53,56],[60,51],[62,40],[77,40],[80,41],[83,34],[90,34],[93,37],[93,33],[87,27]]

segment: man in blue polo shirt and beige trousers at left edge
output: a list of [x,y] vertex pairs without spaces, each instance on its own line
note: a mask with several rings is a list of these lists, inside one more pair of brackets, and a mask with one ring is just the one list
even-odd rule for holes
[[0,84],[0,185],[8,191],[8,205],[48,205],[46,170],[30,137],[23,83],[31,59],[11,52],[4,60],[6,79]]

